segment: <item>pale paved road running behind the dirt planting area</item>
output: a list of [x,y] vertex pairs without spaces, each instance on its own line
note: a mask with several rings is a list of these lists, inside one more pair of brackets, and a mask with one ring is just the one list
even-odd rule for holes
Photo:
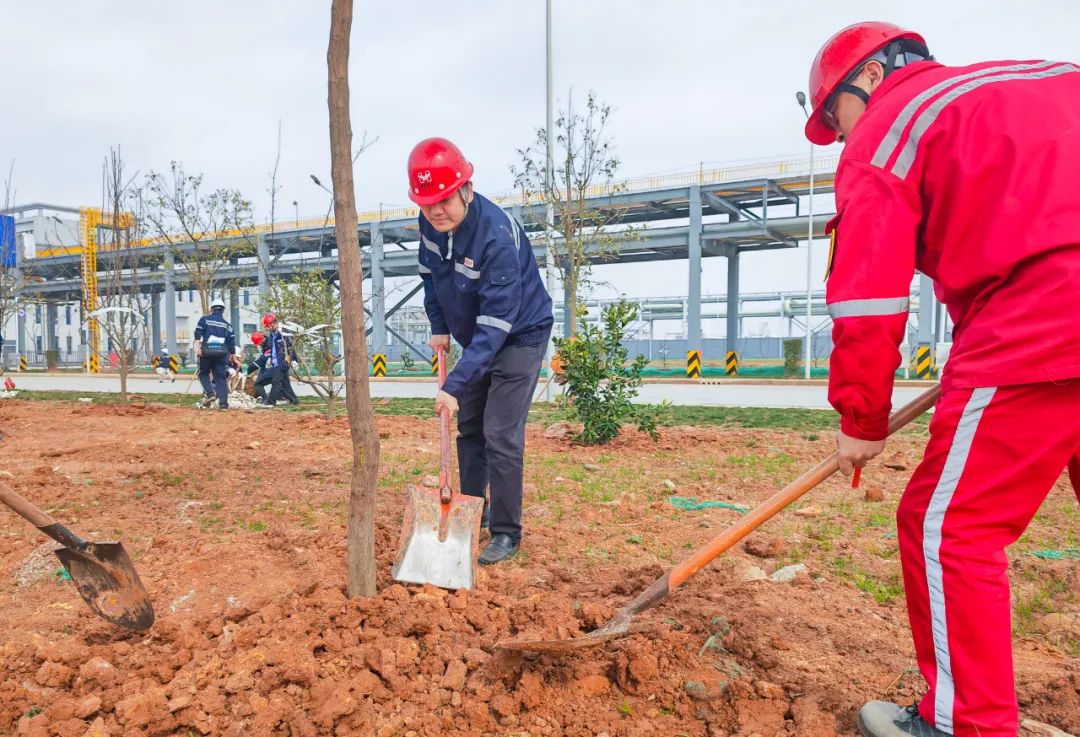
[[[17,388],[66,391],[120,391],[120,379],[116,376],[85,375],[19,375],[11,376]],[[313,397],[314,390],[294,383],[301,397]],[[177,378],[174,384],[159,384],[157,378],[130,378],[127,390],[134,393],[184,393],[200,392],[199,383],[190,376]],[[372,381],[372,396],[378,398],[424,398],[433,397],[435,387],[430,379],[397,379]],[[539,389],[537,390],[539,393]],[[642,387],[639,402],[657,403],[667,400],[672,404],[697,406],[743,406],[743,407],[807,407],[828,408],[824,386],[798,384],[725,384],[693,385],[657,383]],[[921,388],[897,387],[893,391],[893,405],[904,404],[922,392]]]

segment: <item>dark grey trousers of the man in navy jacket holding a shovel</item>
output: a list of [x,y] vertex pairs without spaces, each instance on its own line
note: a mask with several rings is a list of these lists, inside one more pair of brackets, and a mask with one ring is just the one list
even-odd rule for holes
[[485,496],[490,485],[491,534],[515,540],[522,537],[525,423],[546,347],[504,347],[458,399],[461,493]]

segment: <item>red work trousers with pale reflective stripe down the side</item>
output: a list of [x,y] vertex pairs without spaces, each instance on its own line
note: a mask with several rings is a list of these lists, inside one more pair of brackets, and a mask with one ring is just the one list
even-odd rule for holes
[[1068,467],[1080,499],[1080,379],[942,394],[896,512],[922,718],[1015,737],[1005,547]]

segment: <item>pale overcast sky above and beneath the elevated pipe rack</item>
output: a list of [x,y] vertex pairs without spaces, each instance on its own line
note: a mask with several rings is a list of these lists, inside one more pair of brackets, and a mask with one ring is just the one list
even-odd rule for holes
[[[322,216],[328,196],[308,175],[329,180],[329,4],[2,0],[0,162],[5,173],[15,160],[17,200],[99,202],[100,163],[119,144],[131,170],[183,161],[240,189],[264,220],[281,120],[279,218],[294,200],[301,217]],[[822,42],[867,14],[921,31],[947,64],[1080,59],[1076,0],[553,4],[556,98],[595,90],[616,108],[625,176],[805,156],[795,91]],[[542,0],[356,0],[352,43],[353,132],[378,136],[356,170],[362,206],[407,203],[405,158],[430,135],[459,143],[480,191],[510,187],[515,149],[544,121]],[[747,257],[744,289],[797,289],[799,268],[773,267],[801,258]],[[706,292],[724,291],[723,260],[706,259]],[[649,269],[648,283],[640,268],[604,278],[637,294],[685,291],[685,263]]]

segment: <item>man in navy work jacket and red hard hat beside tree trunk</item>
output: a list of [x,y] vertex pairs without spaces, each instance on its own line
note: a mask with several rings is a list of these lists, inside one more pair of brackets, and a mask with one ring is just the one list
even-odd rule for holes
[[521,225],[475,193],[473,166],[445,138],[408,158],[420,206],[419,267],[431,348],[464,348],[435,400],[458,414],[461,491],[485,496],[491,539],[480,562],[513,555],[522,538],[525,420],[551,336],[551,297]]

